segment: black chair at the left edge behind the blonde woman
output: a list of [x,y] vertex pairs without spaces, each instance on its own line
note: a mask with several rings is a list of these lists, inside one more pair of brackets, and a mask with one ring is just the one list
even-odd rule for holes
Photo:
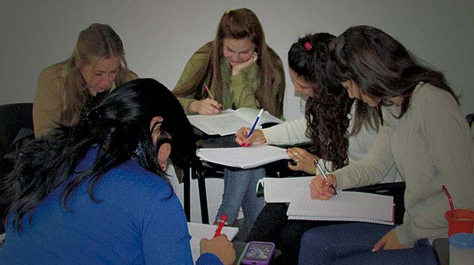
[[[25,131],[27,136],[33,137],[33,103],[15,103],[0,106],[0,177],[6,174],[8,167],[3,156],[12,151],[13,141],[23,136],[20,131]],[[18,136],[18,137],[17,137]],[[0,211],[5,210],[5,205],[0,202]],[[5,232],[0,225],[0,234]]]

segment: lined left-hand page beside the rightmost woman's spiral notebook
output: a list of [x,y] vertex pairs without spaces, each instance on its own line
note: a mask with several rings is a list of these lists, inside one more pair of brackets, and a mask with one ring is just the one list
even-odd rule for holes
[[298,190],[309,190],[313,177],[264,177],[263,194],[266,202],[291,202],[293,193]]

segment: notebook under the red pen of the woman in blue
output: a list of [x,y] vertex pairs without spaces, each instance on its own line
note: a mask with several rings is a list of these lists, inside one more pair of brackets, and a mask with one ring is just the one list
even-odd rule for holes
[[[201,255],[201,249],[199,247],[199,242],[201,239],[212,239],[217,229],[217,225],[206,225],[204,223],[188,223],[188,230],[191,235],[191,252],[192,260],[197,261]],[[238,227],[222,227],[221,234],[226,234],[227,238],[232,241],[236,234],[238,233]]]

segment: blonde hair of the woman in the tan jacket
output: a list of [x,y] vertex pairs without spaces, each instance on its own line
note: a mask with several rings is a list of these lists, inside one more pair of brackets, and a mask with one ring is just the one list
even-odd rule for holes
[[65,82],[66,106],[61,111],[61,124],[75,124],[79,111],[90,96],[86,81],[81,74],[81,67],[112,56],[120,59],[119,71],[115,78],[116,86],[120,86],[132,79],[135,74],[128,70],[123,43],[119,35],[109,25],[99,23],[91,24],[79,33],[72,56],[62,62],[67,64],[68,74]]

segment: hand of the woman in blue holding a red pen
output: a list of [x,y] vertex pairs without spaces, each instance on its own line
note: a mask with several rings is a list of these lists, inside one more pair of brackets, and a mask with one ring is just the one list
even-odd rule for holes
[[236,250],[232,242],[225,234],[221,234],[213,239],[201,239],[201,254],[211,252],[216,255],[223,264],[234,264],[236,260]]

